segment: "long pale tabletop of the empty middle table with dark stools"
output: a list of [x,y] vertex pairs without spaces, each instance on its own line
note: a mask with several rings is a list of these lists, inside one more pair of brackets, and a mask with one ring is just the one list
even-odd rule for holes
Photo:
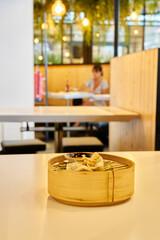
[[111,106],[0,107],[0,122],[108,122],[130,121],[137,116],[138,113]]

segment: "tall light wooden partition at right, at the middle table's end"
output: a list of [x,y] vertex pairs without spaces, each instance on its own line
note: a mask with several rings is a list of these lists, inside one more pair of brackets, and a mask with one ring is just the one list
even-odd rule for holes
[[110,151],[158,150],[159,49],[111,60],[111,106],[140,113],[127,123],[110,123]]

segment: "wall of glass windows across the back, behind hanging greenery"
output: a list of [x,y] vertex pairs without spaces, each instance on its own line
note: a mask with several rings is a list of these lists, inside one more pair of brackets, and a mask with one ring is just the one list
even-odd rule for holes
[[[96,11],[99,12],[92,20],[98,19],[98,23],[93,22],[88,35],[84,32],[85,28],[82,27],[81,22],[86,17],[85,10],[78,15],[73,10],[68,12],[63,22],[62,17],[47,14],[48,64],[110,62],[114,56],[114,19],[113,11],[111,11],[114,1],[108,1],[109,5],[105,1],[98,2],[101,2],[103,8],[100,3],[101,7],[96,6]],[[118,56],[160,47],[160,1],[144,2],[120,1]],[[133,8],[137,13],[135,20],[132,20],[130,16]],[[44,64],[43,9],[38,9],[41,11],[36,11],[34,19],[34,63]],[[102,15],[103,20],[100,18]],[[90,46],[88,46],[84,36],[90,34],[92,39],[88,40],[90,41]]]

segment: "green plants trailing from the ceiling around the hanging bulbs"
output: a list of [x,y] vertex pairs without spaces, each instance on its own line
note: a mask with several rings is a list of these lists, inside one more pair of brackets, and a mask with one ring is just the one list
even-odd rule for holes
[[[105,31],[105,26],[110,24],[114,20],[114,1],[113,0],[62,0],[66,6],[66,14],[68,12],[74,12],[73,22],[81,23],[82,19],[80,13],[84,13],[84,16],[89,19],[89,25],[83,27],[84,40],[87,45],[91,44],[92,27],[93,25],[101,25],[101,31]],[[133,8],[135,8],[137,14],[143,13],[144,4],[146,4],[147,11],[154,13],[158,6],[158,0],[119,0],[120,1],[120,24],[126,24],[126,17],[130,15]],[[34,2],[34,23],[35,28],[40,28],[43,22],[43,12],[47,12],[48,16],[51,15],[51,8],[55,0],[46,0],[45,4]],[[63,29],[63,22],[65,16],[59,19],[58,24]],[[53,18],[50,18],[51,21]],[[54,25],[54,23],[53,23]],[[61,38],[62,31],[59,31],[58,39]]]

